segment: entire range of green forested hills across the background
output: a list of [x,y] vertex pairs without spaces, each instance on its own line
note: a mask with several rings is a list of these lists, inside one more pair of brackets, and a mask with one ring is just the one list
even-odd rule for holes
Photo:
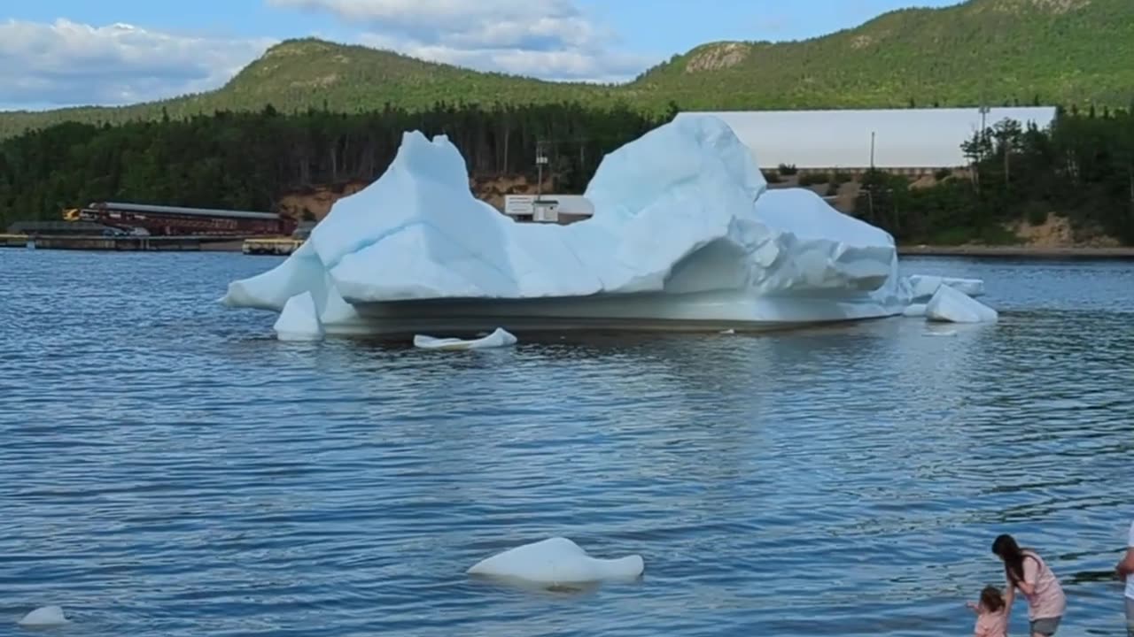
[[439,101],[643,111],[1134,101],[1134,1],[970,0],[904,9],[799,42],[718,42],[623,85],[479,73],[320,40],[269,49],[217,91],[120,108],[0,113],[0,137],[59,121],[119,124],[215,110],[417,110]]

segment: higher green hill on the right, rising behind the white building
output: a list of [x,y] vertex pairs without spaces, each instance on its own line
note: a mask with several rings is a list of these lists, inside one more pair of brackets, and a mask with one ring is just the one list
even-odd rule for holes
[[1127,107],[1134,1],[971,0],[786,43],[705,44],[633,86],[685,109]]

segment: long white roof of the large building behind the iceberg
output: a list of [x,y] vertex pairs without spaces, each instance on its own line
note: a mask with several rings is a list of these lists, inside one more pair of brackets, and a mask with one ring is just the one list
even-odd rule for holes
[[[960,144],[981,127],[978,108],[689,111],[677,117],[703,114],[728,124],[762,169],[781,163],[805,169],[869,168],[871,133],[878,168],[956,168],[968,164]],[[984,117],[988,127],[1014,119],[1022,126],[1034,122],[1046,128],[1055,120],[1056,108],[990,108]]]

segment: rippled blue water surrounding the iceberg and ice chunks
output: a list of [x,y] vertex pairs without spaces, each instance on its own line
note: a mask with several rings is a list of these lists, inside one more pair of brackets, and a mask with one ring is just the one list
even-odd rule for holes
[[[49,603],[75,636],[965,634],[1001,532],[1063,579],[1061,634],[1119,634],[1134,264],[907,260],[987,280],[1001,323],[953,338],[439,354],[213,303],[276,262],[0,252],[0,635]],[[646,575],[464,575],[556,534]]]

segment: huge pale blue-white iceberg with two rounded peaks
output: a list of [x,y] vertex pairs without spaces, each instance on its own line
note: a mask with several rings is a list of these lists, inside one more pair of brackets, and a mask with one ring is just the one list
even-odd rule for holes
[[899,315],[894,238],[807,189],[768,190],[712,116],[610,153],[591,219],[517,223],[473,197],[445,137],[403,136],[279,266],[223,303],[279,312],[310,292],[325,333],[633,328],[756,330]]

